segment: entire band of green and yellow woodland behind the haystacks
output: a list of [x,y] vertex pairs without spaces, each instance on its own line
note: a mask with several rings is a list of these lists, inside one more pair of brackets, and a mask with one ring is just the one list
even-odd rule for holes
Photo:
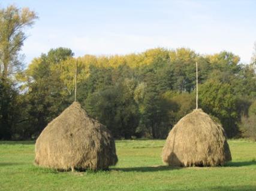
[[76,63],[77,100],[115,138],[166,138],[195,109],[196,61],[199,107],[221,122],[228,137],[256,140],[256,55],[244,64],[227,51],[201,55],[188,48],[154,48],[75,57],[61,47],[24,67],[24,31],[36,19],[28,8],[0,10],[0,140],[37,138],[73,103]]

